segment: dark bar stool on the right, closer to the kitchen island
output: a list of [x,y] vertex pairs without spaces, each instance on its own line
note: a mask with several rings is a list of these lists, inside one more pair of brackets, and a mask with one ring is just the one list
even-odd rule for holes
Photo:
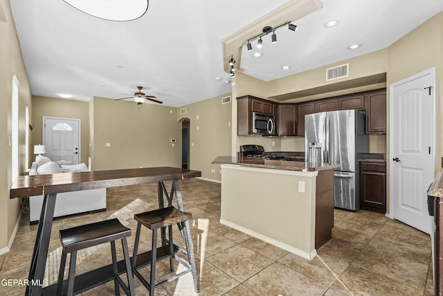
[[[137,230],[134,243],[134,252],[132,254],[132,268],[134,271],[134,275],[136,275],[136,277],[138,277],[138,279],[147,288],[147,290],[150,291],[150,296],[154,295],[155,288],[162,286],[163,284],[166,284],[170,281],[173,281],[174,279],[177,279],[178,277],[181,277],[188,272],[192,271],[193,273],[197,274],[197,271],[192,269],[195,268],[195,262],[194,254],[190,252],[190,250],[192,250],[190,248],[190,244],[192,244],[190,232],[188,231],[189,229],[186,229],[189,228],[189,226],[186,227],[186,224],[189,225],[189,223],[185,223],[190,218],[192,218],[192,214],[180,211],[179,209],[176,209],[174,207],[165,207],[163,209],[156,209],[154,211],[147,211],[145,213],[134,215],[134,219],[137,220]],[[177,224],[180,229],[181,236],[183,237],[183,241],[186,245],[186,251],[177,247],[177,245],[174,245],[174,242],[172,241],[173,224]],[[144,225],[145,227],[152,230],[152,248],[151,252],[147,252],[149,254],[148,256],[150,256],[151,258],[150,260],[147,260],[147,263],[145,264],[137,264],[138,241],[140,240],[141,225]],[[162,237],[162,246],[157,248],[157,230],[163,227],[168,227],[168,238]],[[187,256],[188,261],[177,256],[177,253],[181,253]],[[186,267],[186,270],[183,270],[183,272],[180,272],[178,275],[174,275],[169,279],[161,281],[159,284],[155,284],[156,263],[168,258],[170,259],[171,272],[174,271],[173,259],[183,264]],[[140,272],[138,272],[138,269],[143,268],[149,264],[151,264],[151,276],[150,281],[148,282],[145,278],[143,278]],[[198,293],[197,283],[195,283],[195,290]]]

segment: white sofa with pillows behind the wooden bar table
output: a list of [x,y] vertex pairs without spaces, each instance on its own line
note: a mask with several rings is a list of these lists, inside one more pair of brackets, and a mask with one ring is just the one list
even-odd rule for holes
[[[29,175],[45,175],[50,173],[70,173],[77,171],[89,171],[85,164],[73,166],[59,166],[51,159],[38,155],[33,162]],[[29,198],[29,222],[35,223],[40,218],[42,211],[43,195],[30,196]],[[90,189],[82,191],[57,193],[55,201],[54,217],[79,214],[89,211],[106,210],[106,189]]]

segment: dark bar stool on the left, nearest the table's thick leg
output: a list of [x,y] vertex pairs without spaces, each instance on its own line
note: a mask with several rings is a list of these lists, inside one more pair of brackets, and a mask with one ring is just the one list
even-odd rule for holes
[[[60,272],[58,275],[57,295],[73,295],[75,279],[75,261],[77,260],[77,251],[102,243],[111,243],[112,264],[114,270],[114,285],[116,295],[120,295],[121,286],[127,295],[135,295],[134,279],[132,275],[131,261],[127,247],[127,236],[131,236],[131,229],[123,226],[116,218],[104,220],[97,223],[80,225],[69,229],[60,230],[60,240],[62,241],[62,259],[60,262]],[[116,240],[121,239],[123,245],[123,254],[125,255],[125,265],[127,273],[128,286],[123,283],[118,276],[118,263],[116,256]],[[63,286],[64,266],[66,265],[66,254],[71,253],[69,262],[69,275],[67,290]],[[106,282],[106,281],[105,281]],[[105,284],[105,282],[93,283],[95,286]],[[94,286],[91,286],[93,288]],[[82,291],[80,291],[82,292]],[[79,293],[79,291],[77,291]]]

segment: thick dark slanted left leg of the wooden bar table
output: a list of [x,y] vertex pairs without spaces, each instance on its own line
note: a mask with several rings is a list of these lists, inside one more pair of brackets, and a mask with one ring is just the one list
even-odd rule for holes
[[44,195],[25,295],[41,295],[57,193]]

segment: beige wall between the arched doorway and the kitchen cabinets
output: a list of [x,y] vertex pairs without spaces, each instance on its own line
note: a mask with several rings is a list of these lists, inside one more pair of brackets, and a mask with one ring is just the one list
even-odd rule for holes
[[[190,168],[201,171],[201,177],[208,180],[220,180],[220,166],[211,162],[217,156],[230,155],[231,106],[237,102],[233,100],[231,103],[221,104],[221,98],[229,95],[224,94],[177,109],[178,121],[190,119]],[[180,114],[183,108],[186,108],[186,114]],[[181,139],[179,143],[181,145]]]

